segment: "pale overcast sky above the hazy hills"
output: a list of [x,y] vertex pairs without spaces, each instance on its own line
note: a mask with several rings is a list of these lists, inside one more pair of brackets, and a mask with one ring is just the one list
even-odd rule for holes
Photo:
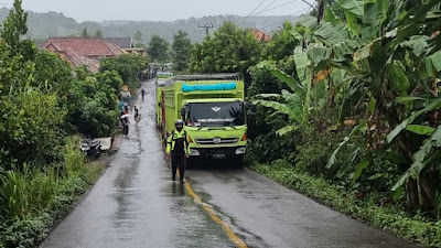
[[[0,2],[9,2],[11,7],[13,0]],[[286,15],[304,13],[308,6],[301,0],[23,0],[23,8],[34,12],[63,12],[83,22],[173,21],[216,14]]]

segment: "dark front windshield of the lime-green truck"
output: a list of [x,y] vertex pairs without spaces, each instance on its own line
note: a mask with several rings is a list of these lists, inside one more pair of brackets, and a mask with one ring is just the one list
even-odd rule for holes
[[197,103],[189,104],[187,125],[194,127],[228,127],[245,125],[244,104]]

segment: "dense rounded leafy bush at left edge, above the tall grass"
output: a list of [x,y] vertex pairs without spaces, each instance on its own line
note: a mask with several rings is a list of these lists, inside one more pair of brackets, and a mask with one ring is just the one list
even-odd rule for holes
[[61,159],[65,111],[53,94],[23,87],[0,94],[0,164],[49,164]]

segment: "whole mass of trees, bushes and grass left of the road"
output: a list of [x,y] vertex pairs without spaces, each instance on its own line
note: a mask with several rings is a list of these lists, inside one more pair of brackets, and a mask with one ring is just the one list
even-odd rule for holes
[[15,0],[0,30],[0,247],[34,247],[98,177],[80,137],[117,132],[122,84],[136,86],[146,62],[108,58],[97,74],[71,66],[25,39]]

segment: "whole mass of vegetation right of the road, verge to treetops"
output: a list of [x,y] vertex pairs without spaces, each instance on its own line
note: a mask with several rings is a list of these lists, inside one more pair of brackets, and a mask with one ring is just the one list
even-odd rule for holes
[[439,0],[332,0],[257,42],[225,23],[196,73],[238,72],[248,165],[337,211],[441,246]]

